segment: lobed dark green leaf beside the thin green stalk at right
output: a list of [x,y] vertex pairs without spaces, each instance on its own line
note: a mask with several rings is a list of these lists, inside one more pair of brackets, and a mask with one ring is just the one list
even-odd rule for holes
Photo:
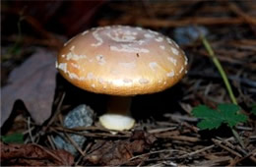
[[239,113],[239,110],[239,106],[235,104],[219,104],[216,110],[199,105],[192,110],[192,114],[201,119],[197,124],[201,130],[218,129],[222,124],[232,129],[238,123],[247,121],[247,117]]

